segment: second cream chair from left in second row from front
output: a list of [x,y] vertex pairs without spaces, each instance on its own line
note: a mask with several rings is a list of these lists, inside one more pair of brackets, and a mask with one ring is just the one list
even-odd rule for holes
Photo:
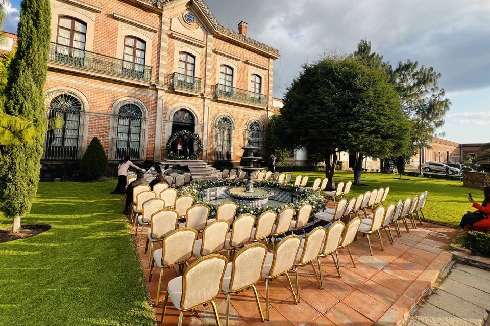
[[203,231],[203,237],[195,241],[192,256],[200,258],[222,251],[230,224],[227,221],[217,220],[208,224]]

